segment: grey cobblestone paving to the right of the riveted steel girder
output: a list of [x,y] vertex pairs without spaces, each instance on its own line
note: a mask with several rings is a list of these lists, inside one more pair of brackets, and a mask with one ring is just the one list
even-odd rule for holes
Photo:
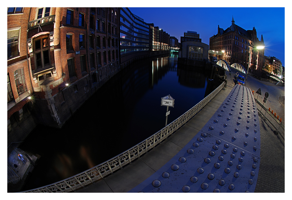
[[[256,91],[261,88],[262,97],[258,100],[263,103],[265,92],[269,92],[265,107],[274,109],[277,115],[281,116],[282,122],[285,122],[285,104],[279,96],[285,96],[285,88],[276,86],[272,83],[259,81],[253,77],[248,77],[250,85],[247,87],[254,90],[254,97],[257,98]],[[251,84],[253,83],[253,84]],[[271,94],[271,95],[270,95]],[[257,104],[257,108],[261,107]],[[263,113],[265,113],[262,110]],[[266,114],[270,122],[275,127],[279,124],[268,114]],[[280,117],[279,117],[280,118]],[[259,116],[260,120],[260,169],[255,192],[285,192],[285,131],[280,128],[279,134],[275,135],[275,128],[263,117]]]

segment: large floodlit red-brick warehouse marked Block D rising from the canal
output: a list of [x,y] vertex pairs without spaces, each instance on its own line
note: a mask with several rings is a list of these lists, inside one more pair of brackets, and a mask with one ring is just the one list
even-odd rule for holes
[[62,127],[119,71],[119,8],[7,8],[7,41],[9,146]]

